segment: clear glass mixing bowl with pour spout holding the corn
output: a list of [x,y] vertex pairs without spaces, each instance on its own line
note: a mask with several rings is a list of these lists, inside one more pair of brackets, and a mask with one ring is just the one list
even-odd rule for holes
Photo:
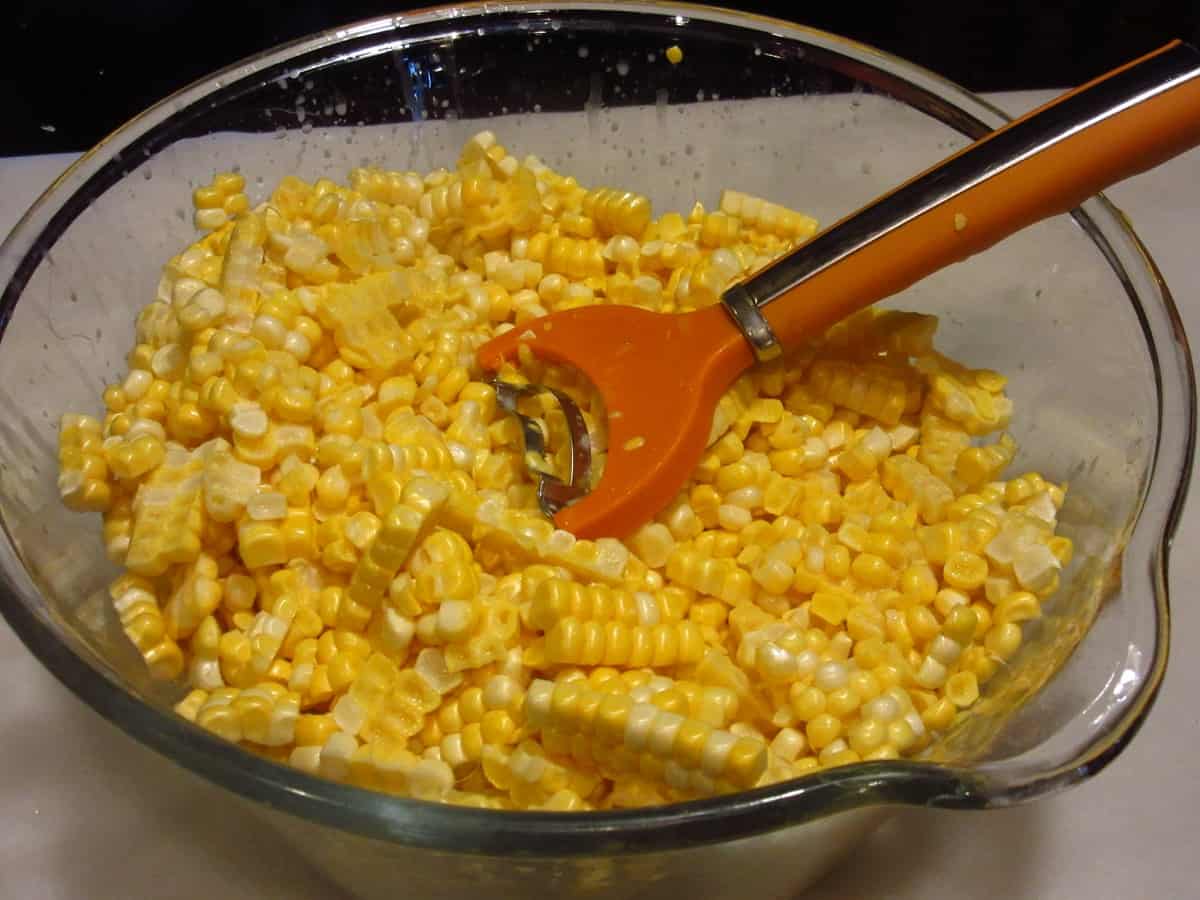
[[[665,50],[678,44],[672,65]],[[433,805],[311,778],[178,718],[106,593],[96,522],[55,488],[56,421],[98,410],[136,311],[192,239],[191,188],[240,168],[428,169],[487,127],[583,184],[686,210],[736,187],[830,222],[1004,115],[870,47],[784,22],[656,4],[484,4],[376,19],[227,68],[68,169],[0,250],[4,614],[127,733],[228,788],[360,896],[544,892],[793,894],[889,806],[1004,806],[1078,784],[1138,731],[1166,664],[1166,556],[1195,397],[1178,316],[1145,247],[1097,197],[895,298],[941,349],[1010,376],[1018,469],[1070,482],[1062,590],[973,716],[924,758],[620,812]],[[1087,640],[1080,638],[1087,632]],[[1051,679],[1051,676],[1054,678]]]

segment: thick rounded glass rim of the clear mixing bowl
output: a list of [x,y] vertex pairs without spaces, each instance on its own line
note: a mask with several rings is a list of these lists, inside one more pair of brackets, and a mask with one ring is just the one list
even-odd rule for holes
[[[70,214],[68,200],[121,151],[173,115],[194,107],[222,85],[252,79],[263,70],[301,54],[328,50],[352,41],[409,29],[452,24],[484,17],[552,14],[630,14],[646,19],[674,17],[685,26],[694,19],[714,25],[754,29],[798,41],[838,58],[870,66],[881,76],[912,90],[934,95],[946,104],[947,124],[974,136],[1008,120],[1000,109],[964,88],[920,66],[868,44],[818,29],[766,16],[712,6],[676,2],[475,2],[430,7],[392,17],[366,19],[330,29],[259,53],[202,78],[160,101],[84,154],[40,197],[0,245],[0,328],[7,325],[25,281],[41,260],[40,239]],[[1162,301],[1159,310],[1141,308],[1142,326],[1154,365],[1159,401],[1159,436],[1150,466],[1144,508],[1127,552],[1134,548],[1147,563],[1156,616],[1154,654],[1145,680],[1120,719],[1096,740],[1060,764],[1037,772],[1006,772],[1002,766],[979,772],[919,762],[862,763],[808,775],[794,781],[737,794],[665,806],[580,814],[479,810],[428,803],[342,785],[270,762],[229,744],[168,712],[130,694],[108,672],[90,665],[77,648],[53,629],[37,592],[6,529],[0,546],[4,566],[0,611],[22,641],[68,689],[102,716],[140,743],[200,774],[218,786],[300,818],[407,846],[454,852],[526,857],[594,856],[680,850],[811,821],[839,811],[882,804],[941,808],[988,808],[1024,802],[1076,784],[1111,762],[1139,730],[1160,686],[1166,666],[1169,610],[1166,572],[1171,539],[1178,524],[1190,479],[1195,442],[1195,384],[1182,320],[1157,265],[1128,223],[1103,197],[1085,204],[1120,233],[1141,258]],[[76,210],[78,215],[78,210]],[[73,220],[71,215],[66,224]],[[65,228],[65,224],[64,224]],[[60,232],[61,233],[61,232]],[[56,240],[56,236],[54,239]],[[22,274],[24,272],[24,277]],[[1151,316],[1154,322],[1146,322]],[[1162,377],[1158,354],[1177,370],[1182,385]],[[1169,407],[1169,408],[1168,408]],[[1164,424],[1175,416],[1178,427]],[[1180,424],[1182,422],[1182,424]],[[1182,430],[1182,434],[1174,433]],[[1164,438],[1164,431],[1169,433]],[[1174,479],[1174,480],[1172,480]],[[1153,520],[1153,521],[1151,521]],[[1144,556],[1142,556],[1144,554]],[[17,582],[11,572],[18,572]],[[24,577],[22,577],[24,576]]]

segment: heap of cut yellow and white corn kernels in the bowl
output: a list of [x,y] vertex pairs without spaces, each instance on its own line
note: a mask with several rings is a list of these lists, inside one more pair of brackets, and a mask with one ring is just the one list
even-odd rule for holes
[[[582,304],[714,304],[808,216],[726,191],[655,218],[488,132],[454,170],[244,188],[194,192],[203,236],[59,451],[125,632],[203,728],[424,799],[667,803],[919,752],[1058,586],[1063,488],[1004,480],[1004,378],[913,313],[743,377],[629,539],[540,516],[475,349]],[[506,374],[576,391],[602,449],[580,385]]]

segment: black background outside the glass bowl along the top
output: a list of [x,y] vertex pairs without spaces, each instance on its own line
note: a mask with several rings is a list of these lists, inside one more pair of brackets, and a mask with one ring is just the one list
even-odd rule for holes
[[[0,155],[84,150],[215,68],[313,31],[425,5],[16,0],[0,13]],[[1200,0],[895,0],[870,14],[862,0],[725,5],[864,41],[980,91],[1066,88],[1172,37],[1200,43]]]

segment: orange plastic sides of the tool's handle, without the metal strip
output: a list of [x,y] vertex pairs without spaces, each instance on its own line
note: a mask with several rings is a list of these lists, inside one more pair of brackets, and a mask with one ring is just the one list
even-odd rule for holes
[[[1026,119],[1178,46],[1172,41],[1069,91],[955,156],[972,152]],[[1198,144],[1200,79],[1192,78],[1080,128],[882,234],[780,294],[762,307],[763,316],[780,343],[793,346],[938,269],[986,250],[1026,226],[1068,212],[1104,187]]]

